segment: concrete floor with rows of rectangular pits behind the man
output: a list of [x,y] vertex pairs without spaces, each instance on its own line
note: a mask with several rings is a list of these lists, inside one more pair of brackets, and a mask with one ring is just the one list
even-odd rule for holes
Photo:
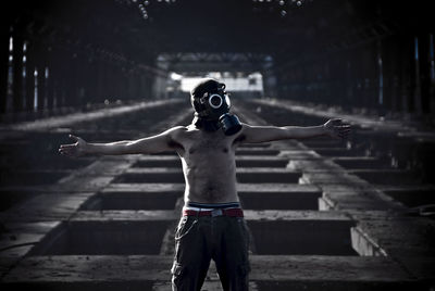
[[[274,100],[236,102],[235,110],[251,124],[310,125],[344,115]],[[2,289],[170,290],[184,190],[176,155],[74,160],[57,149],[69,132],[133,139],[191,116],[188,104],[160,101],[3,126]],[[355,125],[348,142],[238,150],[251,290],[435,288],[435,222],[415,208],[435,204],[427,172],[435,135],[403,122],[343,117]],[[221,290],[214,266],[202,290]]]

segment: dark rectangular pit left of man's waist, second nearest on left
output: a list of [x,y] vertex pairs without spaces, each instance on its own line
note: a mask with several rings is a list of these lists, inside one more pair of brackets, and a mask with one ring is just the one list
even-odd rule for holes
[[173,210],[183,192],[104,192],[89,198],[83,211]]

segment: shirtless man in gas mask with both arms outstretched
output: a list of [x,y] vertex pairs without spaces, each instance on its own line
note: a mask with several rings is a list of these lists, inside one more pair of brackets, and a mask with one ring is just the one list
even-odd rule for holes
[[248,290],[249,235],[236,190],[238,146],[318,136],[346,138],[350,130],[340,119],[311,127],[240,124],[237,116],[229,114],[229,99],[224,89],[224,84],[206,78],[191,90],[195,118],[188,126],[111,143],[88,143],[71,135],[76,142],[59,149],[70,156],[163,151],[178,154],[186,188],[183,216],[175,233],[173,290],[200,290],[211,260],[225,291]]

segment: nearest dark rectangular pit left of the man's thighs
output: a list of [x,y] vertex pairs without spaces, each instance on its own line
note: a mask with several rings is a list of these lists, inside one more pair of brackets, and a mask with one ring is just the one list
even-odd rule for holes
[[63,223],[30,255],[159,254],[169,225],[167,220]]

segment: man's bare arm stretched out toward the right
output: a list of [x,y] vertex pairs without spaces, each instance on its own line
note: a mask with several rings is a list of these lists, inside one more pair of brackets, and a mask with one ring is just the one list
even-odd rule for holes
[[320,136],[346,139],[350,125],[341,119],[330,119],[319,126],[251,126],[244,124],[240,134],[243,142],[265,142],[282,139],[304,139]]

